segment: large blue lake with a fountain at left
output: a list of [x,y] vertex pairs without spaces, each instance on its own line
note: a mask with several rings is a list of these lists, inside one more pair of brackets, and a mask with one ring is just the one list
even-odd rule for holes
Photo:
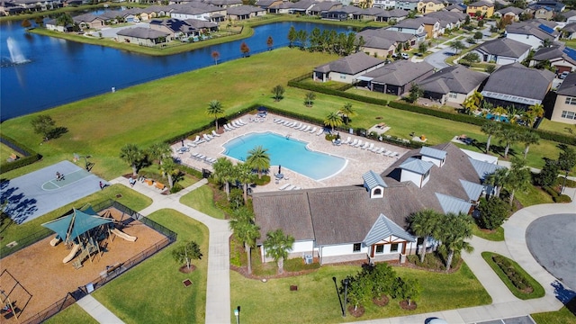
[[104,46],[77,43],[40,36],[24,31],[21,22],[0,24],[0,53],[5,63],[9,57],[7,39],[22,50],[30,62],[0,69],[0,119],[39,112],[96,94],[138,85],[165,76],[191,71],[214,64],[211,52],[220,53],[220,62],[241,58],[240,44],[247,43],[251,54],[267,50],[272,36],[274,48],[288,46],[288,31],[336,30],[345,27],[318,23],[271,23],[258,26],[244,40],[230,41],[203,49],[166,57],[150,57]]

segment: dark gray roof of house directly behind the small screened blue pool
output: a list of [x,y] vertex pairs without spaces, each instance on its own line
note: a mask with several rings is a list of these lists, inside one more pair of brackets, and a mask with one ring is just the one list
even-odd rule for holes
[[552,85],[554,76],[554,73],[548,70],[512,63],[500,67],[488,77],[488,82],[482,88],[482,94],[488,97],[505,94],[542,101]]

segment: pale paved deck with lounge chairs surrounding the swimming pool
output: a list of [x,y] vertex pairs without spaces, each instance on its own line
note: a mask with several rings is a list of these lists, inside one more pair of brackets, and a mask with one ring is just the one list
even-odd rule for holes
[[[308,148],[323,152],[329,155],[335,155],[338,157],[345,157],[347,159],[347,166],[345,166],[338,174],[330,176],[329,178],[322,179],[320,181],[314,180],[305,175],[298,174],[282,166],[282,173],[284,174],[284,179],[275,181],[274,175],[272,175],[273,180],[270,184],[259,185],[253,188],[254,192],[269,192],[280,190],[284,184],[293,184],[302,189],[308,188],[320,188],[338,185],[356,185],[363,184],[362,175],[369,170],[380,173],[386,168],[392,165],[397,158],[404,155],[408,149],[392,146],[391,144],[380,142],[378,140],[365,139],[360,136],[351,135],[347,133],[340,133],[340,137],[343,141],[350,136],[351,140],[362,139],[363,142],[367,141],[370,144],[374,144],[374,147],[386,148],[389,151],[398,152],[399,155],[396,157],[386,157],[383,154],[376,154],[367,149],[354,148],[347,144],[342,144],[339,146],[333,145],[331,142],[324,138],[325,134],[316,135],[318,130],[320,130],[320,125],[313,125],[311,123],[305,123],[310,125],[312,128],[316,127],[317,131],[311,133],[310,131],[304,132],[302,130],[295,130],[290,127],[286,127],[282,124],[277,124],[273,120],[275,118],[281,118],[284,121],[296,121],[284,117],[277,116],[272,113],[268,113],[268,116],[264,121],[248,121],[252,118],[252,115],[244,115],[240,119],[246,123],[246,125],[236,129],[225,131],[220,134],[220,137],[215,137],[208,142],[203,142],[197,145],[195,148],[190,148],[188,152],[175,153],[174,156],[181,159],[185,165],[193,166],[195,168],[206,168],[212,169],[211,165],[206,162],[202,162],[196,158],[191,157],[193,153],[200,153],[206,157],[218,158],[225,157],[224,153],[224,143],[228,142],[230,139],[235,139],[238,136],[250,133],[250,132],[266,132],[272,131],[282,136],[290,136],[293,139],[300,139],[308,142]],[[238,121],[238,120],[237,120]],[[298,121],[300,122],[300,121]],[[209,132],[206,132],[209,134]],[[184,145],[192,143],[192,140],[184,140]],[[177,152],[178,148],[181,148],[182,144],[180,142],[175,143],[172,148]],[[232,157],[228,157],[230,160],[236,162]],[[278,171],[278,166],[270,166],[270,172],[276,173]]]

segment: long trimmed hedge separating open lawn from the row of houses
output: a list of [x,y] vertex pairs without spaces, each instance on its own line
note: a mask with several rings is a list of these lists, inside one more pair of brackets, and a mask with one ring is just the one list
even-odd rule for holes
[[[303,76],[295,77],[292,80],[288,81],[288,85],[293,86],[293,87],[297,87],[300,89],[304,89],[304,90],[315,91],[315,92],[318,92],[320,94],[336,95],[339,97],[343,97],[343,98],[347,98],[347,99],[351,99],[351,100],[356,100],[356,101],[362,102],[362,103],[388,105],[389,107],[395,108],[395,109],[401,109],[401,110],[405,110],[405,111],[409,111],[409,112],[422,113],[422,114],[426,114],[429,116],[447,119],[450,121],[465,122],[465,123],[473,124],[476,126],[482,126],[482,124],[484,124],[484,122],[486,121],[483,118],[478,118],[478,117],[475,117],[472,115],[466,115],[466,114],[462,114],[462,113],[442,112],[442,111],[437,111],[435,109],[429,109],[429,108],[422,107],[422,106],[415,105],[415,104],[403,103],[403,102],[388,102],[388,101],[383,100],[383,99],[370,98],[370,97],[365,97],[365,96],[360,95],[360,94],[349,94],[349,93],[345,92],[347,89],[352,88],[354,85],[349,85],[349,84],[343,85],[340,88],[338,88],[338,90],[335,90],[335,89],[329,89],[329,88],[322,86],[322,85],[311,85],[311,84],[305,84],[305,83],[300,82],[304,79],[311,78],[311,77],[312,77],[311,73],[303,75]],[[524,129],[522,126],[519,126],[519,125],[510,125],[510,124],[505,124],[505,123],[503,123],[502,125],[504,127]],[[568,144],[568,145],[576,145],[576,137],[574,137],[574,136],[564,135],[564,134],[556,133],[556,132],[549,131],[549,130],[537,130],[536,129],[535,131],[540,136],[541,139],[552,140],[555,142],[564,143],[564,144]]]

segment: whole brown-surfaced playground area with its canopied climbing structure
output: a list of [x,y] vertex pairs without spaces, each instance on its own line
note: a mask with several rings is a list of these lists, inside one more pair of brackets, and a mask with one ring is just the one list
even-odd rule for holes
[[[54,235],[2,259],[0,290],[5,294],[2,307],[11,304],[17,319],[12,311],[4,311],[0,322],[18,323],[31,319],[67,297],[67,293],[75,292],[79,287],[89,290],[87,286],[91,283],[121,273],[130,258],[166,239],[112,207],[100,211],[99,216],[92,215],[91,210],[86,212],[88,216],[75,210],[59,218],[60,222],[69,218],[74,226],[60,231],[58,239],[58,231],[55,231]],[[58,229],[58,220],[43,226]],[[86,225],[88,221],[92,225]],[[84,231],[86,228],[90,230]]]

